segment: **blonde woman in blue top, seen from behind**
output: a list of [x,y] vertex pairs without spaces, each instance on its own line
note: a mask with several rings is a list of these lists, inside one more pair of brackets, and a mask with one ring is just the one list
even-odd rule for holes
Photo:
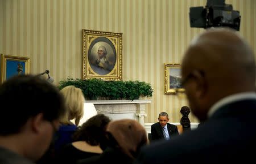
[[[72,143],[72,135],[76,131],[79,125],[80,119],[84,114],[84,94],[80,88],[76,88],[73,85],[69,85],[60,90],[65,98],[65,107],[67,112],[60,118],[61,126],[56,136],[55,151],[68,144]],[[75,124],[71,122],[75,119]]]

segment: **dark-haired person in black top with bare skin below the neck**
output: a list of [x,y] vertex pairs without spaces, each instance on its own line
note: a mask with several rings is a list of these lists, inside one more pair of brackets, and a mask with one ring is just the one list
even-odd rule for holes
[[60,149],[56,163],[76,163],[80,159],[99,156],[102,153],[100,143],[105,141],[106,126],[110,118],[97,114],[86,120],[73,135],[75,140]]

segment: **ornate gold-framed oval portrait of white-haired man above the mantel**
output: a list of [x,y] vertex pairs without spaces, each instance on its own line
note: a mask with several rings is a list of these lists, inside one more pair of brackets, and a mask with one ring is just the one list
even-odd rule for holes
[[122,33],[82,29],[82,79],[122,80]]

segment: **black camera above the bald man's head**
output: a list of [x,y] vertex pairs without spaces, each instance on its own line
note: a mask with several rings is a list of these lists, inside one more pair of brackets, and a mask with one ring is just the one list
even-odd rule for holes
[[205,8],[190,7],[189,19],[190,27],[230,27],[240,30],[240,12],[233,10],[232,5],[225,4],[225,0],[207,0]]

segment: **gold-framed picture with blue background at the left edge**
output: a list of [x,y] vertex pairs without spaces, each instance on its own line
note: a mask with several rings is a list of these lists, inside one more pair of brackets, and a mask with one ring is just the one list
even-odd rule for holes
[[1,83],[21,74],[30,74],[30,58],[1,54]]

